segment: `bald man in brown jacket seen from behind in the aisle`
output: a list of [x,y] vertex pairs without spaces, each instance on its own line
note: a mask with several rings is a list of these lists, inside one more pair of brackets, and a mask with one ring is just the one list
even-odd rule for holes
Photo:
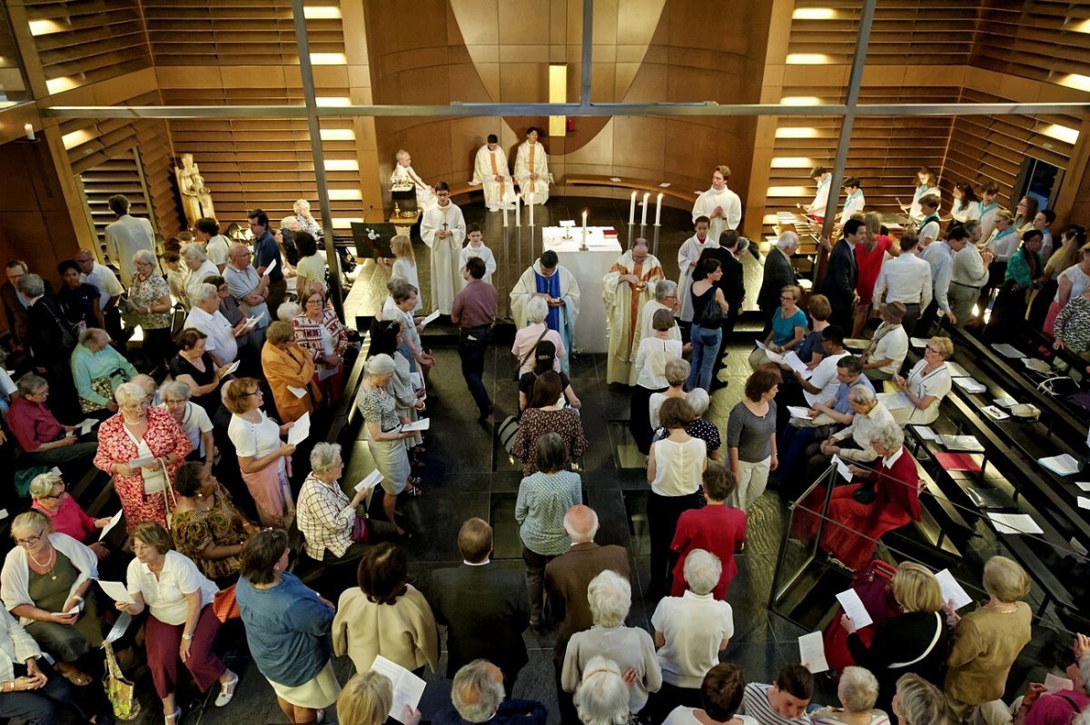
[[571,540],[571,548],[545,566],[545,592],[553,616],[560,618],[560,630],[556,635],[553,666],[556,672],[556,692],[560,703],[560,718],[564,723],[578,723],[579,716],[571,702],[571,693],[560,686],[560,668],[568,641],[576,632],[591,628],[591,605],[586,601],[586,587],[591,580],[613,569],[626,579],[632,579],[628,563],[628,552],[623,546],[594,543],[598,532],[598,515],[590,506],[577,504],[564,516],[564,530]]

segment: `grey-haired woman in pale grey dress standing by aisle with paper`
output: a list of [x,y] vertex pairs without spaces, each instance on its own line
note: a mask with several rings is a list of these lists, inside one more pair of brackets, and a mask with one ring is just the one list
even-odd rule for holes
[[363,415],[367,431],[367,448],[375,459],[375,468],[383,474],[383,510],[386,520],[395,525],[398,535],[404,530],[395,518],[398,495],[408,491],[410,496],[420,496],[420,479],[412,476],[405,440],[413,437],[412,431],[402,431],[409,419],[397,413],[397,400],[387,392],[393,379],[396,365],[389,355],[375,355],[367,361],[367,373],[360,384],[355,404]]

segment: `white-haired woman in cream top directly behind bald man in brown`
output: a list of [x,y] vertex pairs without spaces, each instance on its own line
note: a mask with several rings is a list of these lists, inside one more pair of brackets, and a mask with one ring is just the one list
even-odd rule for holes
[[639,713],[647,704],[647,693],[662,687],[663,670],[646,630],[625,627],[625,617],[632,605],[632,587],[619,573],[606,569],[586,587],[586,601],[594,626],[572,635],[568,641],[560,685],[568,692],[574,691],[584,680],[583,673],[594,668],[593,661],[605,657],[625,673],[631,687],[628,710]]

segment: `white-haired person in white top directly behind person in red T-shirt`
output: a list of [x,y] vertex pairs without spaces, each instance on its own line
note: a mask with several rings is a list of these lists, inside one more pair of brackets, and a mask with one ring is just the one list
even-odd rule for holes
[[722,572],[717,556],[692,549],[685,559],[688,591],[661,600],[651,617],[663,669],[663,688],[655,698],[661,714],[678,705],[700,706],[704,673],[719,661],[719,652],[735,633],[730,605],[712,594]]

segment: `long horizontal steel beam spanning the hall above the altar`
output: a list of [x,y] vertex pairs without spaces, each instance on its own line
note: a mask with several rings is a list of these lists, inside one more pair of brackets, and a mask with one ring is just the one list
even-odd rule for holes
[[[856,116],[1013,116],[1090,112],[1090,102],[1068,104],[873,104],[855,107]],[[472,117],[472,116],[833,116],[848,112],[844,104],[780,106],[778,104],[451,104],[449,106],[327,106],[318,118]],[[305,118],[305,106],[50,106],[43,114],[57,118]]]

